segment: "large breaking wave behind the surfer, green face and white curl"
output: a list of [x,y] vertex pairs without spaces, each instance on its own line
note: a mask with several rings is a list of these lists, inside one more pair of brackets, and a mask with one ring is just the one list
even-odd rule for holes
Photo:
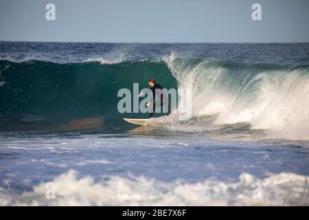
[[[246,122],[275,137],[309,138],[308,65],[207,61],[173,53],[135,62],[0,61],[0,129],[55,129],[80,118],[120,123],[126,115],[117,112],[117,91],[133,89],[133,83],[147,87],[150,77],[167,89],[192,89],[195,118],[214,115],[212,124]],[[198,127],[208,125],[202,120]]]

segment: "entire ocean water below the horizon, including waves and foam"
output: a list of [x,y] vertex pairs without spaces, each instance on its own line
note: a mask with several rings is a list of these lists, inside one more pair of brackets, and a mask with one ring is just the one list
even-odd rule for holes
[[[150,77],[192,118],[122,120]],[[308,206],[308,94],[309,43],[0,42],[0,205]]]

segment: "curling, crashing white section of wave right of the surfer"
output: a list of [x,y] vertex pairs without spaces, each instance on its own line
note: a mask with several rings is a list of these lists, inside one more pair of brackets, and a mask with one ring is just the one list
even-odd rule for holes
[[[309,67],[165,57],[179,89],[192,89],[192,115],[216,124],[249,122],[276,137],[309,138]],[[180,100],[181,102],[182,100]]]

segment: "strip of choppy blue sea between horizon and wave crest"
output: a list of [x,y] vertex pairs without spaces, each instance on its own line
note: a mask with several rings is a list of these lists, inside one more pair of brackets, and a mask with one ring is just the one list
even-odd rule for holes
[[[88,58],[105,61],[157,59],[175,52],[181,58],[238,63],[307,65],[309,43],[43,43],[0,42],[0,60],[82,63]],[[288,54],[288,56],[286,56]]]

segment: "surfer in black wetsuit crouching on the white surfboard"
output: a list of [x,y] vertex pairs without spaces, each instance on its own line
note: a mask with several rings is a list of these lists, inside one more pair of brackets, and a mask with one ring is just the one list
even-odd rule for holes
[[[163,87],[156,83],[155,78],[150,78],[148,80],[148,85],[151,87],[152,91],[152,112],[149,114],[149,118],[152,118],[153,114],[155,113],[156,107],[164,106],[168,109],[168,115],[170,114],[170,104],[168,104],[168,98],[166,97],[165,93],[162,91]],[[158,96],[157,102],[155,102],[156,94]],[[146,107],[150,106],[150,102],[146,103]]]

